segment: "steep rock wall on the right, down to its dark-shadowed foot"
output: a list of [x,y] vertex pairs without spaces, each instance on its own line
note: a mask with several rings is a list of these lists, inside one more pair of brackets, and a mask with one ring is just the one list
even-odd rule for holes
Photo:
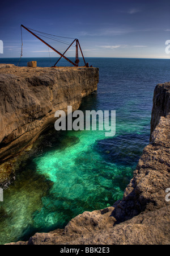
[[170,187],[170,82],[156,86],[151,118],[151,142],[143,150],[124,198],[113,211],[117,221],[144,210],[165,207]]

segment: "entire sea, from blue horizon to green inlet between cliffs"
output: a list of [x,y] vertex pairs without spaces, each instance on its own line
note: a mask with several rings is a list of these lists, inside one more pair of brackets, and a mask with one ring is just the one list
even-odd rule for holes
[[[50,67],[51,58],[37,60]],[[170,81],[170,60],[87,58],[99,67],[97,92],[80,110],[116,110],[116,134],[105,131],[56,131],[44,134],[20,165],[0,202],[0,243],[28,240],[35,232],[63,228],[84,210],[103,209],[122,199],[148,144],[155,85]],[[0,59],[17,64],[18,59]],[[59,65],[67,65],[62,60]]]

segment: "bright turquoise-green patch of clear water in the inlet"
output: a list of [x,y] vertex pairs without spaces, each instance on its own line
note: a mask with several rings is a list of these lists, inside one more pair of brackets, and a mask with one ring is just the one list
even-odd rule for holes
[[37,227],[42,220],[45,226],[63,227],[84,210],[111,206],[122,198],[133,173],[131,164],[106,161],[96,150],[97,143],[105,138],[104,131],[68,131],[66,136],[73,134],[77,143],[33,159],[36,171],[53,181],[41,211],[35,214]]

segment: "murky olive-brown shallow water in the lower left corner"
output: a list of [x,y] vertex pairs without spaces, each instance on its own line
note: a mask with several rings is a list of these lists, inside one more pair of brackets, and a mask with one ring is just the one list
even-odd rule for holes
[[0,207],[0,243],[28,239],[34,234],[33,212],[41,210],[42,198],[48,194],[52,182],[38,174],[35,169],[27,169],[16,176],[16,180],[3,192]]

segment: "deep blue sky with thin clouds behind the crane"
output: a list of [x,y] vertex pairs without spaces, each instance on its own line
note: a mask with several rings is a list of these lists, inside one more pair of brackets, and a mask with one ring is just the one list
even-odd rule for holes
[[[84,57],[169,59],[170,53],[165,52],[165,42],[170,40],[169,14],[169,0],[1,1],[0,58],[20,57],[23,24],[48,34],[78,38]],[[58,57],[24,28],[22,38],[23,57]],[[42,39],[62,53],[68,47]],[[56,39],[69,44],[73,41]],[[75,47],[66,56],[75,56]]]

